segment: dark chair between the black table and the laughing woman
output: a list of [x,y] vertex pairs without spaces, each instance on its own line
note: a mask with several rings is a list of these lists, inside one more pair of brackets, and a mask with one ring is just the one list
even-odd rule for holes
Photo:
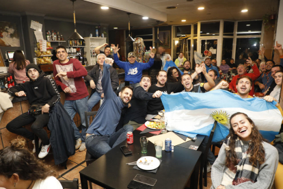
[[214,131],[217,126],[217,121],[214,122],[213,129],[211,130],[211,135],[208,138],[206,149],[202,153],[202,162],[200,162],[200,189],[202,189],[202,179],[204,178],[204,186],[207,187],[207,155],[208,151],[211,150],[211,141],[213,139]]

